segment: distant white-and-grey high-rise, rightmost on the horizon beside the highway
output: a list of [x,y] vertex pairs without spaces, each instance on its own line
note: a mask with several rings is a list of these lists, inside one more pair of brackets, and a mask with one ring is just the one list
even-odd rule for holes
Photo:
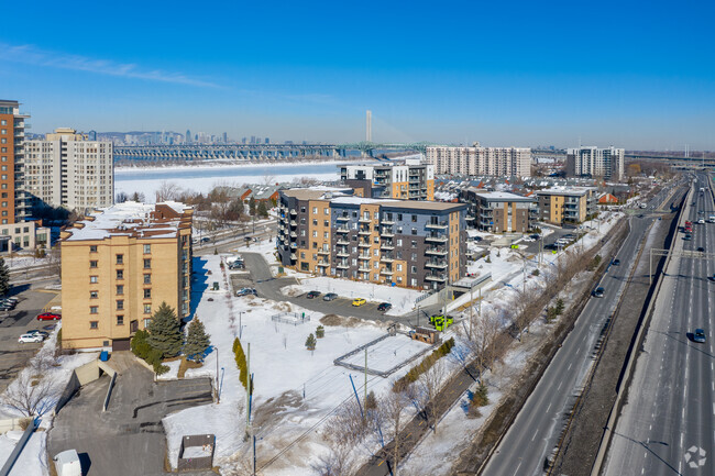
[[624,148],[579,147],[566,151],[566,175],[569,177],[603,177],[620,180],[624,177]]

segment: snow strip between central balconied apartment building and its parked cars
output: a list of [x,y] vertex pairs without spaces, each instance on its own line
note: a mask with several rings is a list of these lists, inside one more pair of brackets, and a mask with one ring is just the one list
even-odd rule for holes
[[[302,276],[306,276],[305,274]],[[374,302],[389,302],[393,308],[386,313],[402,316],[415,307],[415,300],[424,295],[422,291],[406,289],[397,286],[376,285],[372,283],[352,281],[328,276],[300,279],[300,284],[283,288],[286,295],[296,296],[308,291],[334,292],[343,298],[365,298]]]

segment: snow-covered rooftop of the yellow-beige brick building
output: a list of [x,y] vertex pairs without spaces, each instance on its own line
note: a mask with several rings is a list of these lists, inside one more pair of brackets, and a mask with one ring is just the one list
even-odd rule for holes
[[78,221],[74,228],[65,230],[63,240],[105,240],[111,236],[174,237],[180,228],[190,228],[191,212],[191,207],[175,201],[156,204],[125,201]]

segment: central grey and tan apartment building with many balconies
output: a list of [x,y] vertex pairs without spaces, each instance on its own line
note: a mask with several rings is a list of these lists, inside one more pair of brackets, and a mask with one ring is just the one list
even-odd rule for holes
[[278,210],[278,255],[296,270],[419,289],[466,270],[463,203],[294,189]]

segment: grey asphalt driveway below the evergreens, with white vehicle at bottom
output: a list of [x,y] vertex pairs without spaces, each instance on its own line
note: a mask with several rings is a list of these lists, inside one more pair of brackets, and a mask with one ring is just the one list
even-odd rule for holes
[[103,375],[84,386],[59,411],[47,436],[48,454],[77,450],[85,476],[165,475],[162,419],[210,403],[209,379],[154,383],[152,373],[134,363],[117,377],[109,408],[102,412],[108,385],[109,377]]

